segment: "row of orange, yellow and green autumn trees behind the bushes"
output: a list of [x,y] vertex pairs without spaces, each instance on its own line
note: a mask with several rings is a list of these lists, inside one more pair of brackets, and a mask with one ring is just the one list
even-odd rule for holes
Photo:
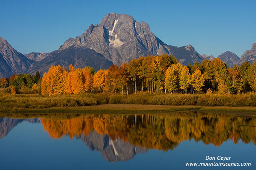
[[[39,74],[39,73],[38,73]],[[0,79],[0,87],[31,88],[38,85],[41,94],[81,93],[219,93],[242,94],[256,91],[256,62],[244,62],[233,68],[219,58],[183,66],[172,55],[158,55],[132,59],[120,67],[111,65],[107,70],[95,72],[91,67],[65,70],[60,65],[51,66],[42,79],[29,81],[29,74],[19,74]],[[21,77],[21,78],[20,78]],[[23,77],[23,78],[22,78]],[[32,77],[32,76],[31,76]],[[10,83],[15,79],[15,83]],[[20,81],[20,79],[23,79]]]

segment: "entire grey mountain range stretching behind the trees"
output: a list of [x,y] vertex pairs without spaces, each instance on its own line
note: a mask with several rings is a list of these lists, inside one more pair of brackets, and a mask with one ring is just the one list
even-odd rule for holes
[[[226,51],[218,57],[229,67],[241,65],[256,59],[256,43],[246,50],[241,59],[234,53]],[[0,77],[10,77],[13,74],[41,74],[48,71],[51,65],[61,65],[68,68],[90,66],[98,71],[107,69],[112,64],[120,66],[131,59],[141,56],[171,54],[182,65],[212,60],[212,55],[201,55],[192,45],[181,47],[167,45],[151,32],[145,22],[138,22],[127,14],[106,14],[99,24],[90,25],[83,34],[68,38],[57,50],[49,53],[17,52],[7,40],[0,37]]]

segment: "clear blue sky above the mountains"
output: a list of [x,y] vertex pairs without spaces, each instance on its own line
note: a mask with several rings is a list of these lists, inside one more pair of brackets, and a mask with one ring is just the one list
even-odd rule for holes
[[191,44],[199,54],[241,57],[256,42],[256,0],[0,0],[0,37],[23,54],[50,52],[111,12],[144,21],[166,44]]

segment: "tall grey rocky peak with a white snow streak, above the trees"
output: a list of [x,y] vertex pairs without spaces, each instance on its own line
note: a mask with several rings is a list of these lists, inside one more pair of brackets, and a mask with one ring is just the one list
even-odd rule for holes
[[81,36],[69,38],[58,51],[70,47],[93,49],[116,65],[166,53],[174,55],[183,65],[203,60],[192,45],[180,48],[166,45],[150,31],[147,23],[139,23],[127,14],[107,14],[99,25],[90,25]]

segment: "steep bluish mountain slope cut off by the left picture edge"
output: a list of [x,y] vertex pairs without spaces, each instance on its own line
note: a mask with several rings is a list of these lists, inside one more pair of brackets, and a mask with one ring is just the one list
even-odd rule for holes
[[33,62],[0,37],[0,77],[25,73]]

